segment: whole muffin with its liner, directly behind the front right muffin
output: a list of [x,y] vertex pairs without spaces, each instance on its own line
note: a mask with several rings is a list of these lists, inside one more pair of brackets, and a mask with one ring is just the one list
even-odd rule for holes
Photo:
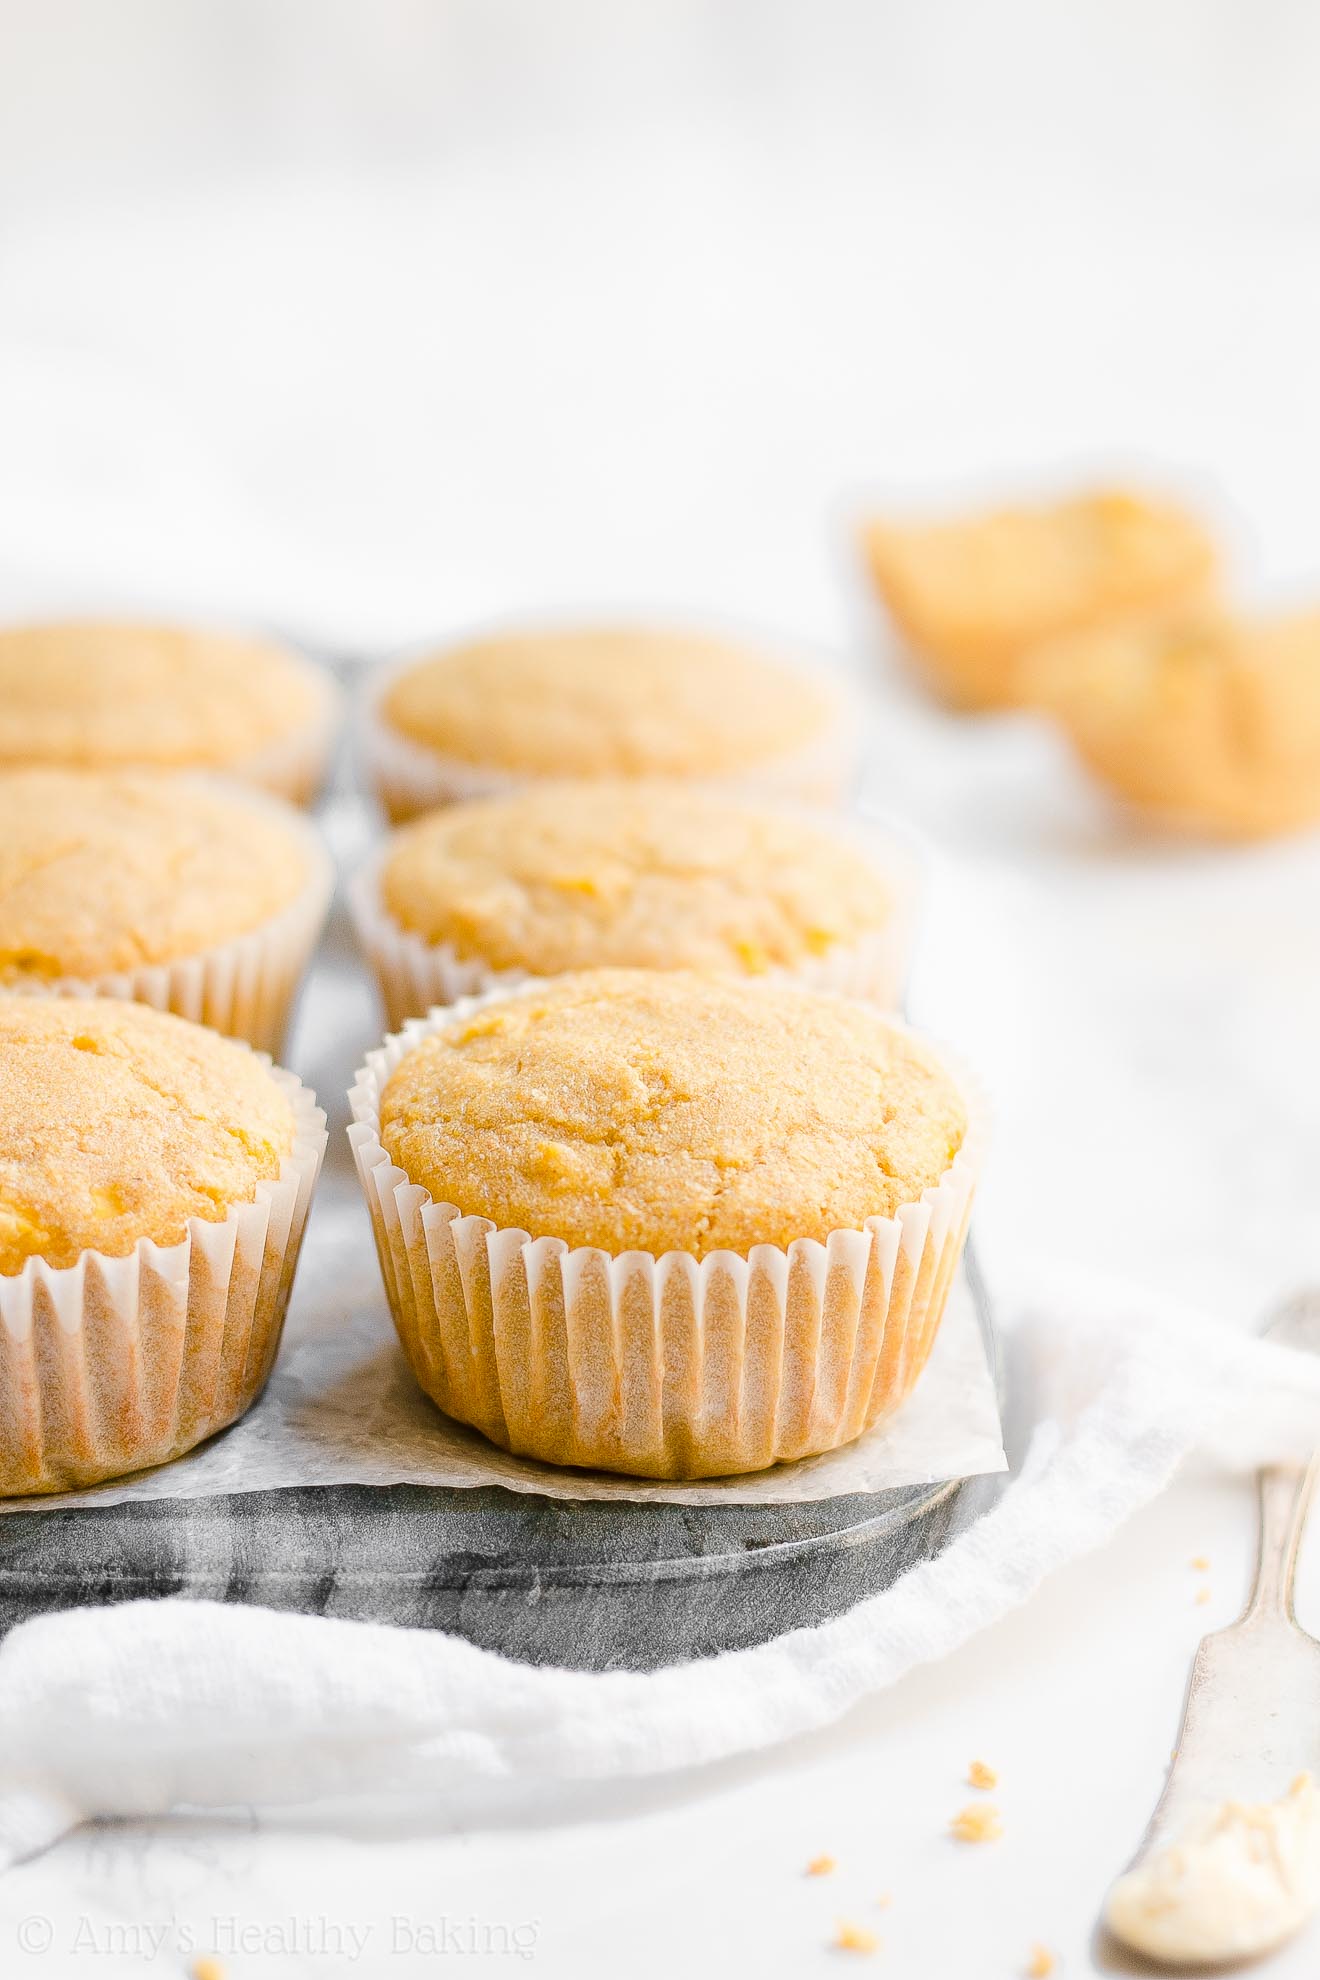
[[584,968],[782,974],[896,1006],[914,863],[825,812],[677,782],[536,782],[392,834],[350,899],[390,1026]]

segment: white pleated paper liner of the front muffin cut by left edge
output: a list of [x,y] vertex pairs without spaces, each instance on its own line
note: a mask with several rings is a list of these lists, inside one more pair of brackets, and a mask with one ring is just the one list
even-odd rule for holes
[[325,1154],[325,1113],[271,1067],[295,1119],[279,1176],[174,1245],[0,1275],[0,1497],[166,1463],[261,1394]]

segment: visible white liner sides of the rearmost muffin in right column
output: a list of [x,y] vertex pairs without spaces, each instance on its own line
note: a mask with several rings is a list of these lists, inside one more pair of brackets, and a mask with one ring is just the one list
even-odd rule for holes
[[[463,642],[467,644],[467,642]],[[497,768],[493,764],[461,762],[439,750],[400,735],[382,715],[382,701],[400,673],[418,661],[443,651],[441,645],[412,649],[398,659],[372,669],[366,681],[358,735],[366,780],[392,826],[406,824],[441,804],[461,804],[465,798],[491,798],[520,784],[536,782],[530,772]],[[768,647],[774,661],[809,671],[809,677],[835,701],[835,717],[801,748],[746,766],[728,776],[701,778],[716,790],[758,792],[768,798],[796,798],[801,804],[843,804],[861,774],[859,699],[847,679],[833,679],[819,667],[807,669],[792,651]]]

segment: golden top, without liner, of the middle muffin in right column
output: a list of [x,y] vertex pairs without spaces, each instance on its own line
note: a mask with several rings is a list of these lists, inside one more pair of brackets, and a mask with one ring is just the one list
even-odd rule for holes
[[538,782],[394,834],[380,893],[463,960],[796,968],[885,927],[891,889],[825,818],[657,782]]

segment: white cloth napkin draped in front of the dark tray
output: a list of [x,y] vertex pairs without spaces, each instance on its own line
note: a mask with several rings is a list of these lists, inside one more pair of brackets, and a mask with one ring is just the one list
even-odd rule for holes
[[768,1746],[1025,1602],[1195,1445],[1255,1463],[1320,1437],[1320,1358],[1132,1293],[1041,1295],[1009,1346],[1033,1428],[997,1503],[885,1594],[756,1649],[594,1675],[212,1602],[24,1624],[0,1649],[0,1865],[95,1816],[445,1796]]

